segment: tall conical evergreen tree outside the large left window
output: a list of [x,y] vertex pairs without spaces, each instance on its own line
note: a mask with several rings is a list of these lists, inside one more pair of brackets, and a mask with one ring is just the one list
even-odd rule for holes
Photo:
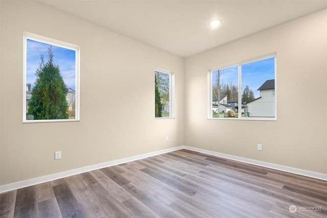
[[29,102],[28,114],[33,114],[34,119],[68,119],[68,105],[66,94],[68,89],[60,75],[60,69],[53,62],[52,46],[47,51],[48,62],[41,62],[36,70],[35,86]]

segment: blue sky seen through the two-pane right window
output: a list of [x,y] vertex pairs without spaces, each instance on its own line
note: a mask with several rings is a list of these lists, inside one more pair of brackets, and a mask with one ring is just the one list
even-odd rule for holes
[[[259,98],[258,88],[266,80],[272,79],[275,79],[274,58],[242,64],[242,92],[246,85],[248,85],[253,91],[255,98]],[[223,84],[229,84],[232,81],[234,85],[238,86],[238,66],[224,68],[220,81]]]

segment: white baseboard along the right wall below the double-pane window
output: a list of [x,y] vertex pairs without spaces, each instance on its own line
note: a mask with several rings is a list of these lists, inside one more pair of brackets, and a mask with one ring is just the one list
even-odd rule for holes
[[227,159],[231,159],[231,160],[237,160],[237,161],[241,161],[244,163],[251,163],[254,165],[258,165],[258,166],[264,166],[264,167],[268,167],[268,168],[272,168],[272,169],[278,169],[279,171],[289,172],[289,173],[293,173],[293,174],[308,176],[308,177],[327,181],[326,174],[305,171],[304,169],[298,169],[298,168],[278,165],[278,164],[274,164],[274,163],[267,163],[267,162],[263,162],[263,161],[259,161],[259,160],[253,160],[253,159],[248,159],[248,158],[244,158],[244,157],[238,157],[238,156],[233,156],[233,155],[229,155],[229,154],[223,154],[223,153],[208,151],[208,150],[204,150],[204,149],[198,149],[198,148],[189,147],[189,146],[183,146],[183,148],[191,150],[191,151],[201,152],[204,154],[214,155],[214,156],[223,157],[223,158],[227,158]]

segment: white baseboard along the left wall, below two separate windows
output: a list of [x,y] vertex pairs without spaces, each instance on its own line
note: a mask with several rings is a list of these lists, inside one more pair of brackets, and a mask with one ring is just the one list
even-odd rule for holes
[[29,180],[24,180],[24,181],[14,182],[14,183],[6,184],[6,185],[1,185],[0,193],[15,190],[18,188],[24,188],[24,187],[31,186],[31,185],[40,184],[43,182],[49,182],[52,180],[61,179],[61,178],[68,177],[68,176],[73,176],[76,174],[94,171],[95,169],[101,169],[104,167],[118,165],[118,164],[130,162],[130,161],[134,161],[134,160],[147,158],[147,157],[152,157],[152,156],[159,155],[159,154],[165,154],[165,153],[180,150],[180,149],[183,149],[183,146],[170,148],[170,149],[164,149],[164,150],[160,150],[160,151],[156,151],[156,152],[150,152],[150,153],[146,153],[146,154],[142,154],[142,155],[136,155],[133,157],[128,157],[128,158],[123,158],[123,159],[119,159],[119,160],[113,160],[113,161],[108,161],[105,163],[99,163],[99,164],[95,164],[95,165],[72,169],[70,171],[64,171],[64,172],[60,172],[60,173],[56,173],[56,174],[51,174],[48,176],[42,176],[42,177],[37,177],[37,178],[29,179]]

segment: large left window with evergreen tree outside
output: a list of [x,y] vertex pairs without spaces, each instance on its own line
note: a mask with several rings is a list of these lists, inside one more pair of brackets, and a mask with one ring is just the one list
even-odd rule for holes
[[79,47],[24,35],[23,122],[79,120]]

